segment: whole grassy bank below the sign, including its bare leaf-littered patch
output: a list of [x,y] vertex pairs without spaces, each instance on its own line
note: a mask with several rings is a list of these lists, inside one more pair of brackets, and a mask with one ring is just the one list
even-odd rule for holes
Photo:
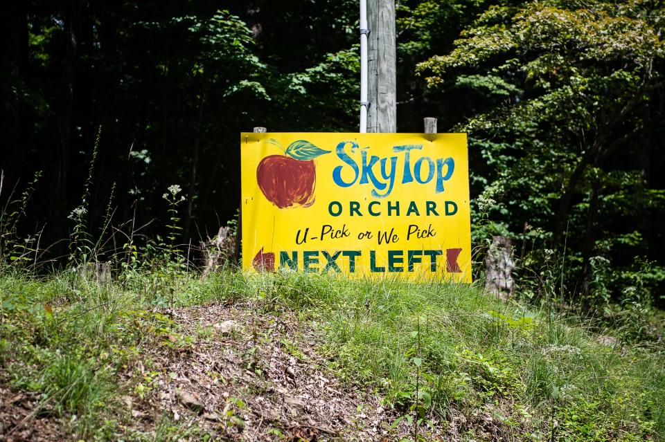
[[662,347],[477,286],[4,274],[0,306],[4,441],[665,435]]

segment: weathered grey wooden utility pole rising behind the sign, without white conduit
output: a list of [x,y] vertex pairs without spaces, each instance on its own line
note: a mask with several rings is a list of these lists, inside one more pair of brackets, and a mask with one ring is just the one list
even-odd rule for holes
[[366,0],[368,132],[397,131],[395,0]]

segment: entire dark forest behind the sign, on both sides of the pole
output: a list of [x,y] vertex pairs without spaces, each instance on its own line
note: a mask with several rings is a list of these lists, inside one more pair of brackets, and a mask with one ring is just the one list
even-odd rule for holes
[[[240,131],[357,131],[356,1],[1,8],[6,263],[62,266],[78,232],[98,261],[187,250],[234,225]],[[398,131],[469,133],[476,261],[510,237],[519,297],[630,311],[639,340],[665,303],[664,26],[656,0],[397,2]]]

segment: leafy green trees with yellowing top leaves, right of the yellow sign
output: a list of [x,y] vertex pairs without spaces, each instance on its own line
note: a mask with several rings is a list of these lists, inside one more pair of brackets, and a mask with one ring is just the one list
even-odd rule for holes
[[[660,256],[645,218],[662,211],[661,184],[646,158],[662,146],[644,133],[662,119],[663,14],[655,1],[488,6],[452,50],[418,65],[433,93],[461,89],[481,103],[454,127],[470,133],[472,189],[495,203],[491,225],[484,211],[473,215],[474,239],[522,240],[519,292],[542,276],[543,248],[565,265],[556,293],[538,295],[571,292],[586,307],[621,300],[627,276],[640,271],[632,257]],[[594,257],[610,263],[608,293],[591,288]]]

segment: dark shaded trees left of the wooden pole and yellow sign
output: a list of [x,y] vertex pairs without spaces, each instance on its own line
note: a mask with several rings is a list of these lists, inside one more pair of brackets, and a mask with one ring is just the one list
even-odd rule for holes
[[[223,196],[240,187],[239,151],[231,148],[238,132],[355,127],[353,0],[79,6],[37,1],[8,11],[17,24],[8,35],[20,47],[8,49],[0,73],[12,165],[3,169],[4,188],[44,170],[40,210],[25,228],[46,225],[41,246],[55,243],[54,257],[76,251],[79,261],[91,260],[94,249],[98,261],[112,259],[123,235],[132,237],[129,249],[144,241],[130,227],[168,237],[166,223],[152,223],[168,176],[186,198],[183,242],[197,244],[237,208]],[[94,176],[86,174],[92,167]],[[110,213],[124,217],[116,215],[116,225],[106,216],[109,194]],[[63,223],[69,214],[72,223]],[[92,232],[100,230],[112,239],[96,244]]]

